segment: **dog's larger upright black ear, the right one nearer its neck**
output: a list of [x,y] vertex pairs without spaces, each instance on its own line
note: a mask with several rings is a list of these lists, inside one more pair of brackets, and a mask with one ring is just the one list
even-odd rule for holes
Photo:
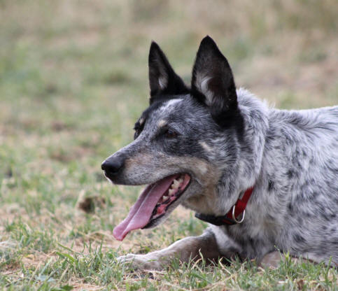
[[209,106],[213,119],[220,125],[237,113],[237,93],[227,59],[210,36],[199,45],[192,69],[191,94]]

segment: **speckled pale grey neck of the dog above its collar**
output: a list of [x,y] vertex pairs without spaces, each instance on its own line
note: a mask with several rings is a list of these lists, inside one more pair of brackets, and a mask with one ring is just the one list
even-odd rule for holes
[[246,190],[259,184],[269,127],[268,108],[246,90],[239,89],[237,94],[239,109],[244,118],[242,140],[237,145],[239,153],[234,164],[223,171],[213,201],[213,211],[206,214],[225,215]]

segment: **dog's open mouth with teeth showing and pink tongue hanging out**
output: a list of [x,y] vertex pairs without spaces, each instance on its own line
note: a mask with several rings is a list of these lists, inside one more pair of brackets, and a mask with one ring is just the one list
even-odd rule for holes
[[178,173],[148,185],[130,208],[127,218],[114,228],[115,239],[122,241],[134,229],[153,226],[178,205],[174,202],[188,188],[190,180],[188,173]]

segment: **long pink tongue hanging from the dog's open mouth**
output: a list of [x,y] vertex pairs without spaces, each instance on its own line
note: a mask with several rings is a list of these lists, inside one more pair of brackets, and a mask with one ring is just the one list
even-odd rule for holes
[[130,208],[127,218],[114,228],[113,236],[115,239],[122,241],[131,230],[145,227],[148,224],[157,202],[177,176],[164,178],[155,184],[148,185],[143,190],[134,206]]

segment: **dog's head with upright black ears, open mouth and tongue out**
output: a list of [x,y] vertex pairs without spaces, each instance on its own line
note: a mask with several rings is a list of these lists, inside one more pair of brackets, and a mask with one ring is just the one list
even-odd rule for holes
[[218,180],[237,159],[243,120],[227,59],[206,36],[199,46],[191,87],[171,68],[156,43],[149,53],[150,106],[135,124],[134,141],[102,163],[122,185],[146,185],[127,218],[115,227],[122,240],[132,229],[154,227],[183,204],[208,212]]

